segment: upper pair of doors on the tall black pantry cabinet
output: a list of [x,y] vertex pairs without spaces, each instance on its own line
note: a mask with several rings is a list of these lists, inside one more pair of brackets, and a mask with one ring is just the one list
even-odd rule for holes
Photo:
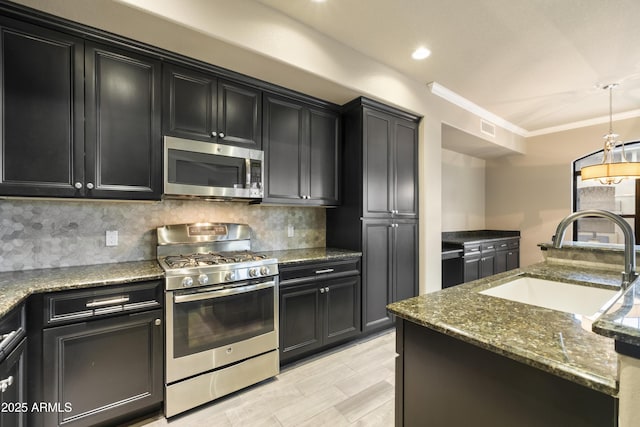
[[418,125],[365,107],[363,216],[418,216]]

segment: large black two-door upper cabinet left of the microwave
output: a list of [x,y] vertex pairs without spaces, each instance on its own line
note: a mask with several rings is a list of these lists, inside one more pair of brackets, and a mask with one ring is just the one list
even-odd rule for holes
[[159,62],[0,25],[0,194],[159,199]]

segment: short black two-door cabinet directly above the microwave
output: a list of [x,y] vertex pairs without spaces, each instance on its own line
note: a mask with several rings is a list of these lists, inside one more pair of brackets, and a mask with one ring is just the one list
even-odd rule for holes
[[165,135],[262,149],[259,89],[172,64],[163,80]]

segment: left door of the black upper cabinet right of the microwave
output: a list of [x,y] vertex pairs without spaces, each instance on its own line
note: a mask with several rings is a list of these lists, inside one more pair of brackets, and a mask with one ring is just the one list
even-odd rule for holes
[[303,204],[300,197],[303,107],[265,95],[263,108],[266,158],[263,200]]

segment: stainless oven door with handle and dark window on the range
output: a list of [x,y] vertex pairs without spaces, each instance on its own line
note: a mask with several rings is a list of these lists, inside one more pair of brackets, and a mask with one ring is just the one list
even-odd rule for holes
[[167,384],[278,348],[278,279],[166,293]]

